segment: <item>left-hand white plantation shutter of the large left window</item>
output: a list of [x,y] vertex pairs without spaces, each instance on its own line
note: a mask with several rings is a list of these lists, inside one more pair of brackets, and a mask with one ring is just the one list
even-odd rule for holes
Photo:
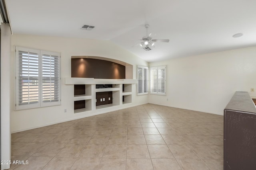
[[39,50],[16,49],[16,107],[39,106]]

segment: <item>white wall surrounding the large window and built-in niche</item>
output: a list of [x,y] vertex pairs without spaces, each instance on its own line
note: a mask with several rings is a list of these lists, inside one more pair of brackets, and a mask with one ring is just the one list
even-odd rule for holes
[[[136,79],[137,65],[148,65],[147,62],[121,47],[114,45],[114,43],[111,43],[110,41],[37,35],[12,35],[11,41],[10,62],[12,69],[10,69],[10,87],[13,89],[10,93],[11,132],[32,129],[83,117],[81,114],[74,114],[74,87],[64,84],[64,78],[71,77],[71,56],[99,56],[124,61],[133,65],[134,79]],[[61,106],[14,111],[14,45],[61,53]],[[148,103],[148,95],[137,96],[135,85],[133,90],[133,106]],[[64,113],[64,109],[67,109],[67,113]]]

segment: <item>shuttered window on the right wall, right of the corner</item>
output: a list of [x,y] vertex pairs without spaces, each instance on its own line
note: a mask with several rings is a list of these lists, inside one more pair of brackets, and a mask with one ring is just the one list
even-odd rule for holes
[[166,95],[166,66],[150,67],[150,94]]

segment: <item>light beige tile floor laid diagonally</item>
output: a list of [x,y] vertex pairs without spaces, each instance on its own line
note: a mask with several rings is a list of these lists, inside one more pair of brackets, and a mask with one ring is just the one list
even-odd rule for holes
[[15,170],[223,170],[223,116],[145,104],[12,134]]

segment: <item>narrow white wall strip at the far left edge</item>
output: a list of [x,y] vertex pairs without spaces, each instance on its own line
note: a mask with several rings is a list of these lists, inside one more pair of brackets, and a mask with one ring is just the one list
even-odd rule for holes
[[[1,160],[11,160],[10,135],[10,43],[9,23],[1,25]],[[1,170],[9,169],[10,164],[2,164]]]

